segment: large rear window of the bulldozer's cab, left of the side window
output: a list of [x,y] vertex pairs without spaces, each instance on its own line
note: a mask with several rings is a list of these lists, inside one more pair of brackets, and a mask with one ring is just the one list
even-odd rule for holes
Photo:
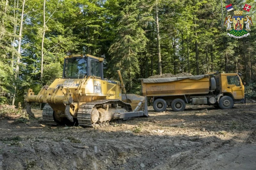
[[84,77],[87,74],[86,58],[65,59],[64,78]]

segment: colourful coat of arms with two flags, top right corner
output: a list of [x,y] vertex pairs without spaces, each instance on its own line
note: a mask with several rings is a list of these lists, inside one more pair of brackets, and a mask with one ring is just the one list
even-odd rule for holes
[[[227,5],[226,8],[228,11],[233,10],[232,4]],[[249,12],[250,9],[251,9],[251,6],[245,4],[244,10]],[[234,14],[235,16],[233,16],[233,18],[230,15],[226,17],[224,22],[225,23],[224,25],[226,26],[226,30],[230,31],[228,35],[230,37],[234,37],[237,39],[247,37],[248,35],[250,35],[248,31],[251,31],[252,18],[249,15],[247,15],[244,18],[244,16],[242,16],[243,11],[234,11]]]

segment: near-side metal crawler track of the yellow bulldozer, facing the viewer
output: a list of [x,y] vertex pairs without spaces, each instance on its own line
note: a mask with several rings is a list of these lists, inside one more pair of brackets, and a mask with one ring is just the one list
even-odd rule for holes
[[96,124],[93,124],[91,122],[92,109],[95,108],[95,107],[102,106],[104,104],[118,104],[121,107],[126,107],[126,109],[128,109],[128,110],[132,110],[131,106],[128,103],[124,103],[124,102],[122,102],[120,100],[117,100],[117,99],[96,100],[96,101],[93,101],[93,102],[84,103],[79,107],[78,112],[77,112],[78,124],[82,125],[82,126],[95,127]]

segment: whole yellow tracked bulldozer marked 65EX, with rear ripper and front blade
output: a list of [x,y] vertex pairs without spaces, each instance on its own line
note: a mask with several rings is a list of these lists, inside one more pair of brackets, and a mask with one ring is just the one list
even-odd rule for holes
[[37,95],[28,89],[27,113],[35,117],[32,103],[46,103],[43,108],[46,124],[60,124],[65,119],[74,122],[76,118],[79,125],[91,127],[130,117],[148,117],[147,97],[126,94],[120,71],[120,82],[104,78],[103,61],[104,58],[89,54],[66,56],[62,78],[42,87]]

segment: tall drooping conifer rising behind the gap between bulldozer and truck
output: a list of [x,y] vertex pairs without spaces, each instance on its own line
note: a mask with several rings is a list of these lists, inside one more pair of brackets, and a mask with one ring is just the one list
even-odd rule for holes
[[130,90],[133,80],[139,73],[139,53],[145,50],[148,39],[139,25],[142,16],[137,6],[140,6],[140,1],[120,1],[119,4],[116,39],[109,48],[111,56],[109,72],[116,74],[116,71],[120,70],[125,77],[126,88]]

